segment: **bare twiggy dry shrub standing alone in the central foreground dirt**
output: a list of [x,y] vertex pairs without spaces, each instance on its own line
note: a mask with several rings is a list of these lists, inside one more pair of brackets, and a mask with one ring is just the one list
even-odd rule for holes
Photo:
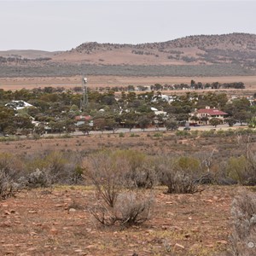
[[96,206],[90,212],[98,222],[129,226],[141,224],[149,218],[152,196],[134,189],[131,165],[124,154],[102,151],[90,155],[84,167],[96,188]]

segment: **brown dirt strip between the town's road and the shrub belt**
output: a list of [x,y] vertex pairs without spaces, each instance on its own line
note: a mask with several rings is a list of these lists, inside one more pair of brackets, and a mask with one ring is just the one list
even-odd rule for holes
[[[239,131],[239,130],[237,130]],[[250,136],[250,147],[255,150],[256,136]],[[20,139],[0,142],[0,153],[16,155],[40,154],[45,151],[75,151],[90,154],[100,149],[136,149],[145,154],[201,154],[212,152],[214,159],[224,160],[241,155],[245,146],[232,137],[178,137],[175,131],[144,131],[122,134],[90,134],[89,136],[65,137],[44,135],[39,140]]]

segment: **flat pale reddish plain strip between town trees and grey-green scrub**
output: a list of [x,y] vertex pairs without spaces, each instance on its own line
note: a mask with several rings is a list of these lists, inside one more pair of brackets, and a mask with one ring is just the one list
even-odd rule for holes
[[[191,79],[202,83],[231,83],[243,82],[247,90],[256,90],[255,76],[238,77],[124,77],[124,76],[90,76],[88,77],[88,87],[99,86],[127,86],[132,85],[152,85],[152,84],[190,84]],[[20,90],[22,88],[44,88],[46,86],[62,86],[73,88],[81,86],[82,77],[49,77],[49,78],[0,78],[0,89]]]

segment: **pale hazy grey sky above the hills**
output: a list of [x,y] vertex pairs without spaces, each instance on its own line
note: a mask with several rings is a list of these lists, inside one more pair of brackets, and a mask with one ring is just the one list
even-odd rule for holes
[[67,50],[198,34],[256,33],[253,1],[2,1],[0,50]]

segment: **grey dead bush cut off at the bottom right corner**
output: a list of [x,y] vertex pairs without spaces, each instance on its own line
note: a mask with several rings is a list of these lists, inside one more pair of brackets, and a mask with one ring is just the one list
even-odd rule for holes
[[256,197],[247,190],[236,196],[231,208],[233,231],[231,252],[236,256],[256,255]]

